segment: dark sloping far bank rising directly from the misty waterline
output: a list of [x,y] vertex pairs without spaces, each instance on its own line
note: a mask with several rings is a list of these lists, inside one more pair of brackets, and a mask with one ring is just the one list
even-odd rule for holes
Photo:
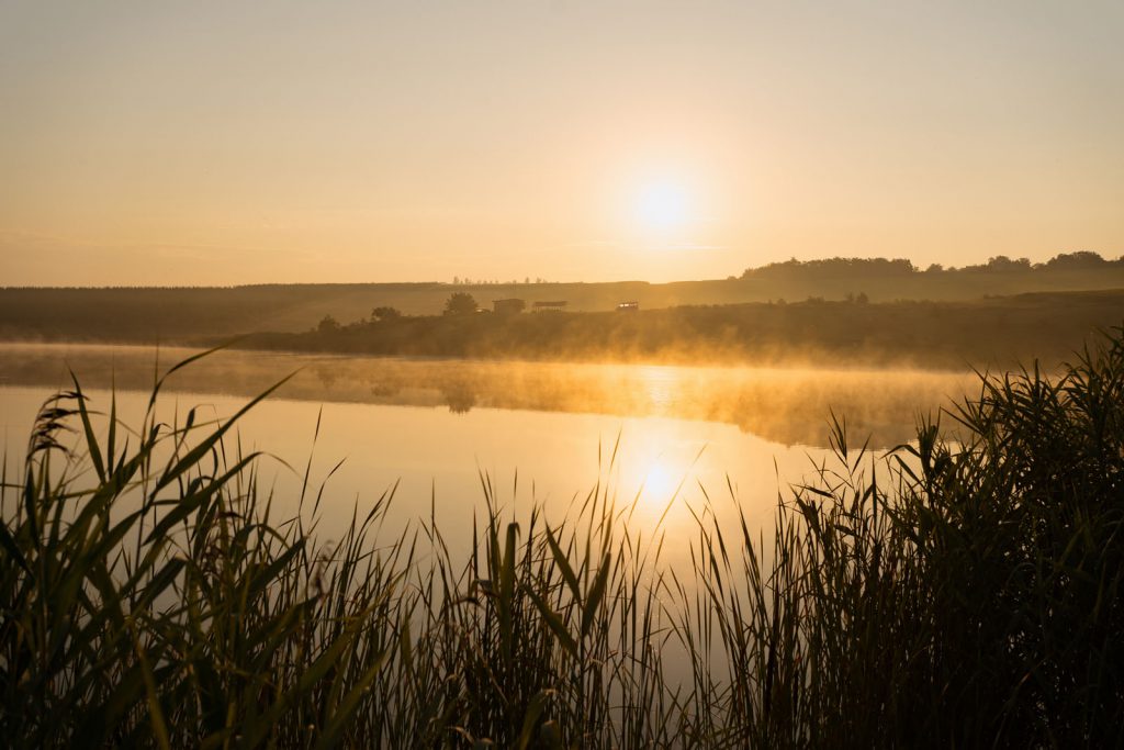
[[806,300],[638,313],[469,314],[330,319],[241,346],[306,352],[554,361],[780,363],[963,369],[1055,364],[1115,325],[1124,291],[972,302]]

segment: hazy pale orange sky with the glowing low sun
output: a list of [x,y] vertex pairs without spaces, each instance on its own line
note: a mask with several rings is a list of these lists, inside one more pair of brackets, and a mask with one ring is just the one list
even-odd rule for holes
[[0,0],[0,286],[1124,253],[1124,2]]

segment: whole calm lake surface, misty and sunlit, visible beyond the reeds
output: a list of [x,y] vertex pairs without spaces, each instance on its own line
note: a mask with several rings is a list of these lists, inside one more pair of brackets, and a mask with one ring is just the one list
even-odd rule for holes
[[[116,386],[124,421],[136,424],[157,367],[190,353],[163,350],[157,365],[151,349],[0,346],[9,469],[44,399],[69,386],[67,368],[94,408],[108,409]],[[466,548],[473,514],[484,507],[482,475],[520,517],[534,503],[560,517],[600,481],[622,505],[638,497],[631,523],[649,537],[669,505],[659,528],[669,537],[689,533],[689,507],[703,507],[704,491],[719,518],[733,519],[736,503],[768,528],[779,489],[827,458],[831,410],[846,415],[854,443],[870,437],[886,449],[909,439],[918,413],[973,382],[967,373],[913,371],[219,352],[173,376],[161,414],[171,419],[202,405],[205,414],[226,417],[293,371],[239,432],[244,446],[274,457],[262,464],[262,476],[275,487],[279,513],[294,507],[310,455],[315,486],[343,461],[325,485],[321,535],[338,534],[356,503],[362,508],[397,482],[390,531],[397,535],[433,512],[454,551]]]

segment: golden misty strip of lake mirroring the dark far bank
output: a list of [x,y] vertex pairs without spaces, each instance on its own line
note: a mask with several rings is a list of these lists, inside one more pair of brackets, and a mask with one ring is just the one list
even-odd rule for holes
[[[129,346],[3,345],[0,385],[145,390],[156,352]],[[164,368],[191,354],[160,352]],[[826,446],[831,412],[873,448],[908,441],[918,413],[964,394],[967,373],[402,360],[223,351],[173,377],[183,392],[253,396],[298,370],[279,391],[297,400],[658,416],[736,425],[785,445]]]

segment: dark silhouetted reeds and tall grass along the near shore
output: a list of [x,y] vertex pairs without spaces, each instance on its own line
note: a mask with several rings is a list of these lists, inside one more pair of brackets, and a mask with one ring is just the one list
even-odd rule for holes
[[944,418],[886,458],[836,424],[771,545],[704,505],[676,570],[601,486],[554,526],[493,510],[468,560],[432,521],[375,544],[389,495],[317,545],[318,498],[271,519],[237,416],[126,433],[75,383],[3,478],[0,737],[1120,747],[1124,333]]

